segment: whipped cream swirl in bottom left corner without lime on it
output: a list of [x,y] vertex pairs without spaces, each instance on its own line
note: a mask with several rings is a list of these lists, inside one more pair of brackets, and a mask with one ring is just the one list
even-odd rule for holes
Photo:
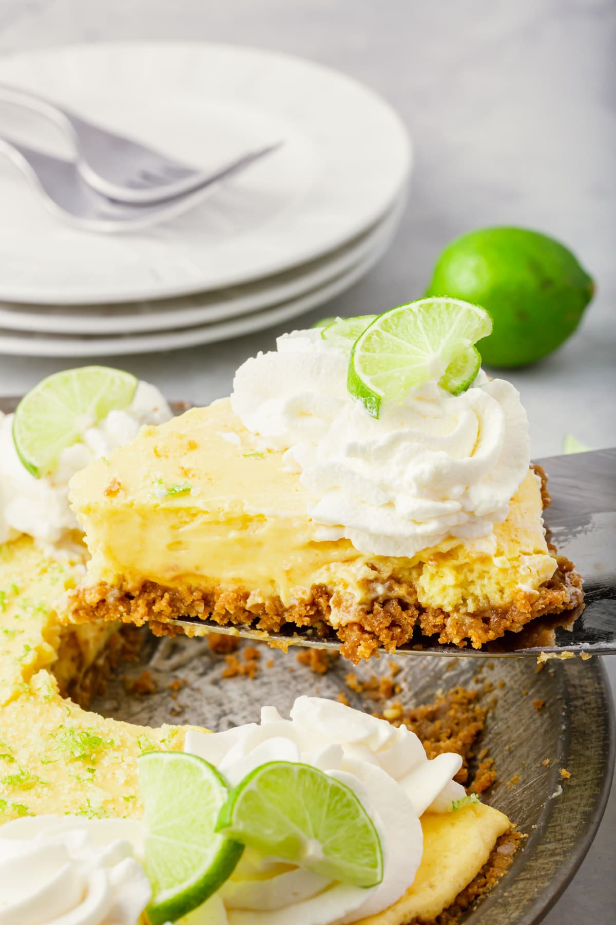
[[140,823],[34,816],[0,829],[3,925],[137,925],[151,886],[133,856]]

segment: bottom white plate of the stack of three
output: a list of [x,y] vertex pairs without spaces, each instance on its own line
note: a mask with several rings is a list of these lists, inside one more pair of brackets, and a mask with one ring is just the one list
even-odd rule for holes
[[[377,263],[387,250],[390,236],[380,240],[378,245],[351,269],[330,280],[319,289],[311,290],[297,299],[284,302],[275,308],[234,318],[212,325],[186,327],[177,331],[161,331],[155,334],[125,335],[115,338],[60,337],[54,335],[14,333],[0,328],[0,353],[13,356],[47,357],[95,357],[122,356],[124,354],[153,353],[196,347],[199,344],[228,340],[272,327],[304,314],[324,302],[329,302],[344,290],[349,289]],[[324,314],[327,314],[324,312]]]

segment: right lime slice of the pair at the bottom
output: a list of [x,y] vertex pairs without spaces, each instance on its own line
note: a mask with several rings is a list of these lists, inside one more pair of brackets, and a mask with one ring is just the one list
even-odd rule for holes
[[379,835],[344,783],[308,764],[271,761],[239,783],[216,826],[244,845],[343,883],[376,886]]

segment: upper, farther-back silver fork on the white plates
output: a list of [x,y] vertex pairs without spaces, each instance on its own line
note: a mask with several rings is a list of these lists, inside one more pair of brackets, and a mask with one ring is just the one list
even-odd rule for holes
[[0,100],[27,106],[62,129],[77,152],[79,172],[96,191],[124,203],[158,203],[201,187],[202,170],[94,125],[38,93],[0,84]]

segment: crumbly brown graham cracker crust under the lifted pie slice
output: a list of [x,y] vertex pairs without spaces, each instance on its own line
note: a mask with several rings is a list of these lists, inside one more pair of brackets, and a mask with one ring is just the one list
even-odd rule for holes
[[338,638],[341,652],[355,664],[369,659],[377,648],[393,653],[411,642],[416,629],[423,635],[438,635],[440,643],[460,648],[469,642],[480,648],[506,631],[518,632],[525,623],[547,613],[574,610],[583,599],[582,579],[573,562],[559,556],[558,567],[537,594],[520,592],[502,608],[477,613],[448,612],[423,607],[417,589],[400,586],[404,597],[375,598],[356,609],[356,619],[337,629],[329,623],[331,590],[323,585],[310,588],[305,601],[284,607],[280,598],[250,603],[248,589],[221,590],[217,586],[174,588],[144,582],[137,592],[122,591],[105,583],[79,588],[71,595],[70,620],[120,620],[142,626],[150,623],[155,635],[183,632],[175,620],[196,617],[220,626],[245,625],[264,632],[280,633],[297,627],[309,628],[319,638]]

